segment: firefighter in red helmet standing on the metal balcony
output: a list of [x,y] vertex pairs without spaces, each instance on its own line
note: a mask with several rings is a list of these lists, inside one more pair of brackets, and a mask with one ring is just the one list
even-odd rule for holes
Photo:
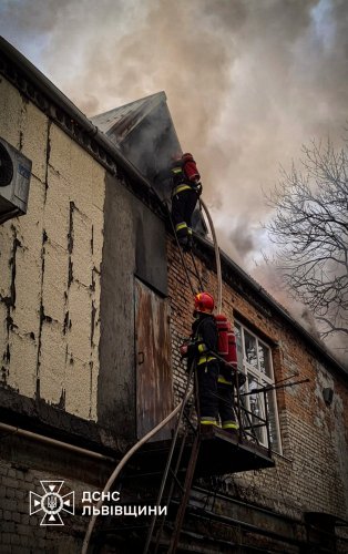
[[218,341],[213,316],[214,298],[208,293],[199,293],[194,300],[191,342],[182,347],[182,355],[187,356],[188,366],[196,360],[201,431],[211,431],[212,425],[218,425],[219,416],[222,429],[236,433],[232,369],[214,356]]

